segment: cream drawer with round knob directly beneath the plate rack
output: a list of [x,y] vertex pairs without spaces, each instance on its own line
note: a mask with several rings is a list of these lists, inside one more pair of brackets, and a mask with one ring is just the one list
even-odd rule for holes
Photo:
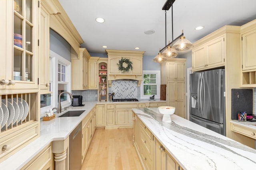
[[[4,145],[9,147],[9,150],[0,150],[0,162],[12,155],[19,147],[24,147],[25,143],[28,143],[33,138],[38,136],[38,123],[33,123],[24,127],[14,133],[10,133],[0,139],[0,148]],[[3,158],[4,157],[4,158]]]

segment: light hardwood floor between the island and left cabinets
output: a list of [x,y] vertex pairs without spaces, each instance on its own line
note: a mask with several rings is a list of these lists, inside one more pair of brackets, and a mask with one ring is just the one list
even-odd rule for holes
[[142,170],[132,128],[96,129],[81,170]]

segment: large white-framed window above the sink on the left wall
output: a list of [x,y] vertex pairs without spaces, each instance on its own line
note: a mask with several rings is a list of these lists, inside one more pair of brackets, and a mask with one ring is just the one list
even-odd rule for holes
[[[58,106],[58,96],[61,92],[71,92],[71,63],[60,55],[50,51],[50,91],[52,94],[40,95],[41,116],[47,109]],[[62,94],[60,96],[62,108],[70,106],[70,96]]]

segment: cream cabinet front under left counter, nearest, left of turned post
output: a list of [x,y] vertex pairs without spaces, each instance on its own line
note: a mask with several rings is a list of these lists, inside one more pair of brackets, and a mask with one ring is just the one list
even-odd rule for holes
[[52,143],[40,151],[22,170],[54,170],[54,155],[52,153]]

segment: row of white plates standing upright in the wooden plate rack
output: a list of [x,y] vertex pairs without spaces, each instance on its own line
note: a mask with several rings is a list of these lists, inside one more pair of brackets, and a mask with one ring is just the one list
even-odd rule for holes
[[0,107],[0,128],[5,129],[7,124],[10,127],[11,123],[14,125],[16,122],[24,121],[28,115],[28,103],[21,98],[2,99]]

